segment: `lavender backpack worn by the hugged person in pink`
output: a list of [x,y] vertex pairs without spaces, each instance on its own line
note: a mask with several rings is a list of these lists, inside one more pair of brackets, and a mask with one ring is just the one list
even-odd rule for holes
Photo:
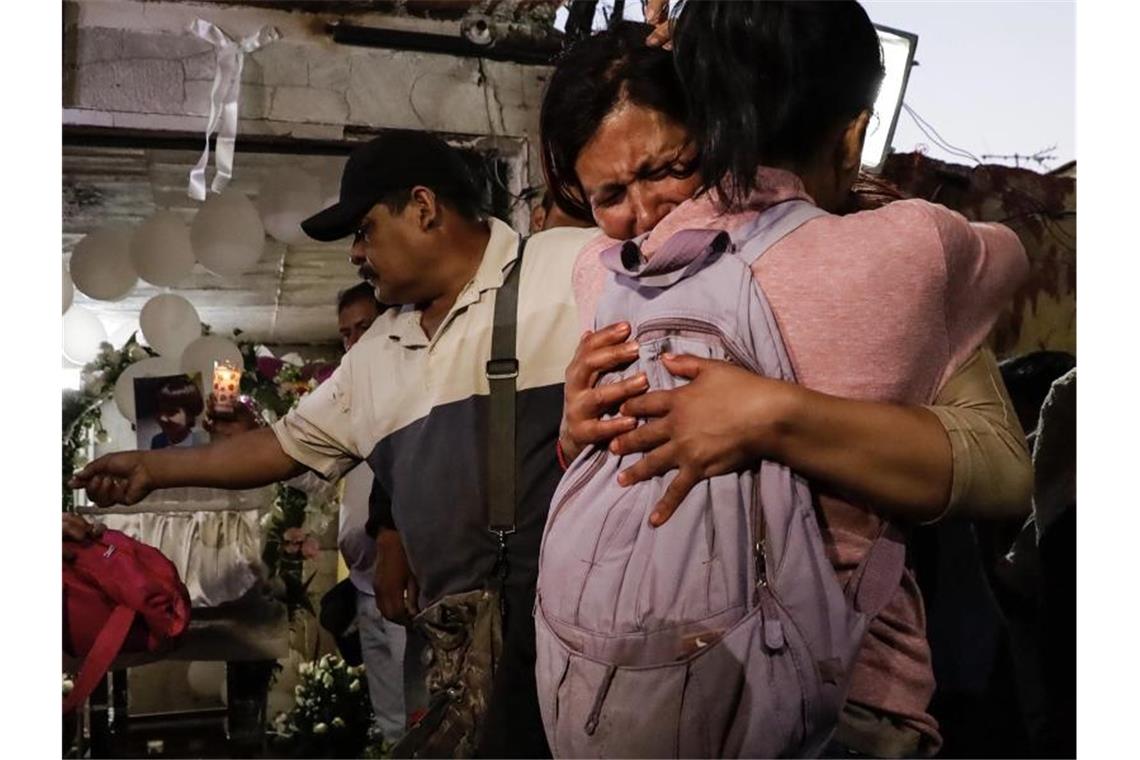
[[[605,251],[614,272],[595,324],[626,319],[644,370],[676,387],[665,352],[793,381],[749,269],[824,212],[801,201],[736,234],[684,230],[644,261]],[[764,461],[698,483],[661,528],[649,514],[674,473],[630,488],[641,455],[585,450],[559,484],[539,556],[538,697],[555,757],[817,755],[846,698],[869,620],[898,588],[904,545],[881,536],[842,588],[807,483]]]

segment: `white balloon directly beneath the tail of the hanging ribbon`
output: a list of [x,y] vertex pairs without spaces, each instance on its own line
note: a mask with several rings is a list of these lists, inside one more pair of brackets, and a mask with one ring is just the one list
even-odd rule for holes
[[190,243],[202,265],[222,277],[249,271],[261,259],[266,229],[253,203],[238,190],[213,195],[190,223]]

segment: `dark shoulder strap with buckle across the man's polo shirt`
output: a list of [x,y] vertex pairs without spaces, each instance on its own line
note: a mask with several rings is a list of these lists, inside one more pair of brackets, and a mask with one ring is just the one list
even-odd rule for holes
[[527,238],[519,237],[519,255],[495,294],[495,326],[491,332],[491,358],[487,362],[490,385],[490,440],[488,441],[488,524],[499,541],[514,532],[515,440],[514,394],[519,377],[515,334],[519,311],[519,278]]

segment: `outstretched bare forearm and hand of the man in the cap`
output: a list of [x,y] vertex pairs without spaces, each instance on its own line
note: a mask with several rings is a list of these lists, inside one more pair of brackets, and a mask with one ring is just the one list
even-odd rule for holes
[[136,504],[161,488],[246,489],[288,480],[304,466],[266,427],[195,449],[121,451],[99,457],[71,480],[97,506]]

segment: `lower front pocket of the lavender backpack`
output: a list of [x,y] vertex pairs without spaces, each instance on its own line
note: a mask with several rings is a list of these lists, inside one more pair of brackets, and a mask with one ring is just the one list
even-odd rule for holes
[[782,757],[816,713],[814,656],[769,590],[719,639],[660,665],[570,649],[536,613],[538,695],[554,757]]

